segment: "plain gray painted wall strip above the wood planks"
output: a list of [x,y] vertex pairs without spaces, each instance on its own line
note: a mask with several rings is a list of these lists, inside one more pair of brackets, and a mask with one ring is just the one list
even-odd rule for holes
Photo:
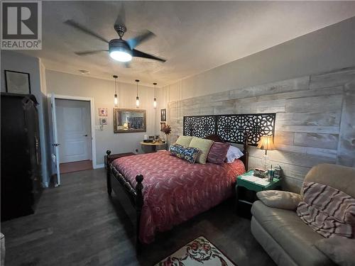
[[293,79],[355,65],[355,17],[160,89],[169,101]]

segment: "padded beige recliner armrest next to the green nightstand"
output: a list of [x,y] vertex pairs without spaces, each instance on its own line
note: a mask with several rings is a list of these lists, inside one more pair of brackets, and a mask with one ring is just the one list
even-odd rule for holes
[[272,208],[295,211],[297,205],[302,201],[302,196],[293,192],[279,190],[264,190],[256,193],[263,204]]

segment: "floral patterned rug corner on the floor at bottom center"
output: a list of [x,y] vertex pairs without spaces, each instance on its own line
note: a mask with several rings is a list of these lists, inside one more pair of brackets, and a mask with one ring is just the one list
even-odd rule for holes
[[236,266],[209,240],[200,236],[155,266]]

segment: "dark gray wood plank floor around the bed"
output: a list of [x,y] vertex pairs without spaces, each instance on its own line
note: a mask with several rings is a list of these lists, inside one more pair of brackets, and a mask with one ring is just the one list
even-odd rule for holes
[[105,179],[104,169],[63,174],[62,186],[44,191],[35,214],[2,223],[5,265],[153,265],[200,235],[239,266],[275,265],[232,201],[160,233],[136,256],[131,220],[112,204]]

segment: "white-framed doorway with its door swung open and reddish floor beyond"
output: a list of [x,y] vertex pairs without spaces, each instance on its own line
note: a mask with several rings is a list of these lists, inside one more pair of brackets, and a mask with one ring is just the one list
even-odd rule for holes
[[96,168],[94,100],[80,96],[50,95],[53,128],[53,176]]

